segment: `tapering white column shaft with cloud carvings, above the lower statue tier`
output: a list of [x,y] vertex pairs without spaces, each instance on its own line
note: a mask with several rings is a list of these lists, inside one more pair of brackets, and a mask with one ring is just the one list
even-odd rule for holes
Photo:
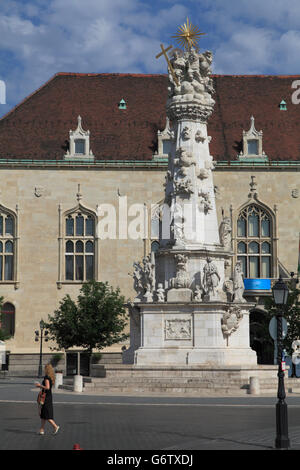
[[195,249],[220,244],[212,178],[214,164],[207,134],[214,90],[210,68],[201,67],[209,54],[198,54],[192,49],[183,53],[180,60],[178,53],[172,60],[178,85],[169,74],[167,116],[176,144],[170,153],[165,185],[165,201],[171,210],[171,243],[163,239],[162,246],[173,244],[175,248]]

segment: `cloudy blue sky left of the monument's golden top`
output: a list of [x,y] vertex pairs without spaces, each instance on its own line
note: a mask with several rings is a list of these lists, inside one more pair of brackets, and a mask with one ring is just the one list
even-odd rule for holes
[[165,72],[155,59],[161,37],[186,13],[173,3],[154,9],[142,0],[4,2],[0,65],[1,52],[11,65],[0,79],[8,85],[7,101],[15,104],[61,71]]

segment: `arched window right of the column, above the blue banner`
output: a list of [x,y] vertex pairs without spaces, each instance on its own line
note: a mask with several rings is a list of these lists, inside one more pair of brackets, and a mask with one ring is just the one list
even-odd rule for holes
[[245,278],[271,278],[272,217],[258,204],[246,206],[237,220],[237,259]]

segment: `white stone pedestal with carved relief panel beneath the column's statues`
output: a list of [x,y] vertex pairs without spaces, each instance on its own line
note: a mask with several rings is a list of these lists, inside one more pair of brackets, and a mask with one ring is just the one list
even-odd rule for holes
[[[171,296],[175,295],[172,290]],[[140,346],[134,362],[140,366],[256,365],[256,353],[249,343],[251,308],[248,303],[226,302],[139,304],[135,310],[140,316],[136,331]]]

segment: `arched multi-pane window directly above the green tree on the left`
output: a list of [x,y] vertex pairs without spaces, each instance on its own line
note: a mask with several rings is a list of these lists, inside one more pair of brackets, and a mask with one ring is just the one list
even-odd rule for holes
[[65,281],[95,278],[95,219],[83,211],[65,217]]

